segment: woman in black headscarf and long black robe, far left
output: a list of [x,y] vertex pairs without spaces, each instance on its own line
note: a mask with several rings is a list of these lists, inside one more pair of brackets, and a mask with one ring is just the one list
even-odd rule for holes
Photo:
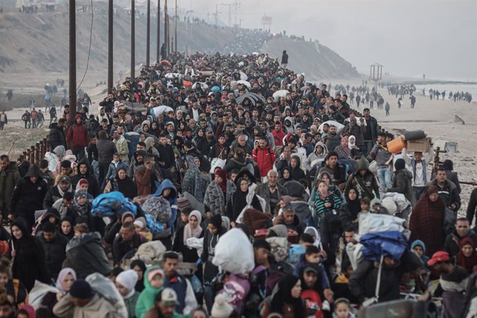
[[12,277],[24,283],[26,290],[35,285],[35,280],[49,283],[43,245],[31,236],[24,218],[16,218],[10,225],[10,253],[12,256]]

